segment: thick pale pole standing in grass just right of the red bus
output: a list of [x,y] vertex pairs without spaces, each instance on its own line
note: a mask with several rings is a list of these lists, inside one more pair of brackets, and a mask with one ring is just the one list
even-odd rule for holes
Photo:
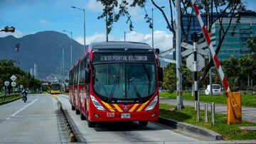
[[176,79],[177,79],[177,106],[176,109],[183,107],[182,101],[182,74],[181,74],[181,1],[175,0],[176,17]]

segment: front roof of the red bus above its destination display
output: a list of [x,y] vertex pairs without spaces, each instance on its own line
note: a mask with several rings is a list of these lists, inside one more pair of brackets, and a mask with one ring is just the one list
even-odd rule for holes
[[138,43],[138,42],[122,42],[122,41],[111,41],[111,42],[98,42],[91,43],[90,47],[92,50],[95,49],[143,49],[143,50],[152,50],[152,48],[146,43]]

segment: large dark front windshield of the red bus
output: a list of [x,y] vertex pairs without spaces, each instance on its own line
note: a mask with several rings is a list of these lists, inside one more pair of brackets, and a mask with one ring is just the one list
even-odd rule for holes
[[146,63],[93,65],[93,89],[109,100],[143,99],[156,91],[156,69]]

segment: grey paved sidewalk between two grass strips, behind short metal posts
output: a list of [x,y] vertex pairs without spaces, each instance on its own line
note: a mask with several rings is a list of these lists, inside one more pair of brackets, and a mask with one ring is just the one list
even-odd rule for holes
[[[176,105],[176,99],[166,99],[164,97],[160,97],[160,103],[162,104],[171,104]],[[200,109],[204,109],[204,102],[200,103]],[[184,106],[195,106],[195,101],[184,101]],[[208,104],[208,111],[210,111],[210,104]],[[227,105],[225,104],[215,104],[215,113],[223,113],[227,114]],[[245,121],[249,121],[251,123],[256,123],[256,108],[250,108],[242,106],[242,119]]]

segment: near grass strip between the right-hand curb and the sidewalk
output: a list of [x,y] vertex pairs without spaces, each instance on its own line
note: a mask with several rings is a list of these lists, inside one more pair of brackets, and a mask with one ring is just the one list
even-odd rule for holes
[[[186,106],[186,108],[182,109],[181,111],[175,111],[173,109],[174,106],[169,104],[160,104],[160,116],[208,128],[216,133],[220,133],[220,135],[223,135],[225,140],[256,139],[256,131],[245,131],[239,128],[240,126],[256,126],[256,123],[242,121],[240,124],[228,125],[227,116],[224,114],[215,113],[215,126],[211,126],[211,123],[204,123],[203,111],[200,111],[200,122],[196,123],[196,112],[193,107]],[[210,121],[210,113],[208,113],[208,121]]]

